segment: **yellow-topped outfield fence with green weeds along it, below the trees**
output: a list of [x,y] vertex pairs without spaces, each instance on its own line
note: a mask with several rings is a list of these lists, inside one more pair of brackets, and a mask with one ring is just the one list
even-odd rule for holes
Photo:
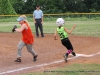
[[[0,22],[16,22],[16,18],[19,15],[0,15]],[[33,14],[25,14],[29,21],[33,21]],[[61,13],[61,14],[44,14],[45,21],[54,21],[58,17],[63,17],[67,21],[73,20],[98,20],[100,18],[100,13]],[[75,19],[74,19],[75,18]]]

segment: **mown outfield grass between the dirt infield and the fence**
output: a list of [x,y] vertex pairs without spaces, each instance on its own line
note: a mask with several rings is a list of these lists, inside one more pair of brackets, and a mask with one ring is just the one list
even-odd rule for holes
[[[29,24],[31,25],[32,32],[35,33],[34,22],[29,22]],[[66,21],[64,27],[70,30],[74,24],[76,24],[77,27],[72,34],[100,37],[100,21]],[[0,32],[11,32],[14,25],[20,27],[18,22],[1,22]],[[43,23],[44,33],[54,33],[56,28],[57,25],[55,21],[44,21]]]

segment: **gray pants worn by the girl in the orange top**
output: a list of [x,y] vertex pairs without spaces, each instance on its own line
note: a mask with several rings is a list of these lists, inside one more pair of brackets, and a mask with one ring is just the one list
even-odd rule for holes
[[33,55],[33,57],[36,55],[34,49],[32,48],[33,47],[33,44],[25,44],[22,40],[19,42],[18,44],[18,57],[21,57],[22,54],[21,54],[21,51],[22,51],[22,48],[26,46],[27,50]]

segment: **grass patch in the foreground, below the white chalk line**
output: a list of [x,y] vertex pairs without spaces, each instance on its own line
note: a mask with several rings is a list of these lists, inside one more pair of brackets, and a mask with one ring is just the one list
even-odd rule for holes
[[100,64],[73,64],[22,75],[100,75]]

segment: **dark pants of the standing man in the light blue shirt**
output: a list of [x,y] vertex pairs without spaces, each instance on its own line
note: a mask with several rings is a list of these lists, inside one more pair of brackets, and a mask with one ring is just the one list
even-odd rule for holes
[[35,30],[36,30],[36,36],[38,37],[39,36],[39,31],[38,31],[38,28],[40,29],[40,32],[41,32],[41,37],[44,37],[44,34],[43,34],[43,26],[41,24],[41,19],[35,19],[36,23],[35,23]]

